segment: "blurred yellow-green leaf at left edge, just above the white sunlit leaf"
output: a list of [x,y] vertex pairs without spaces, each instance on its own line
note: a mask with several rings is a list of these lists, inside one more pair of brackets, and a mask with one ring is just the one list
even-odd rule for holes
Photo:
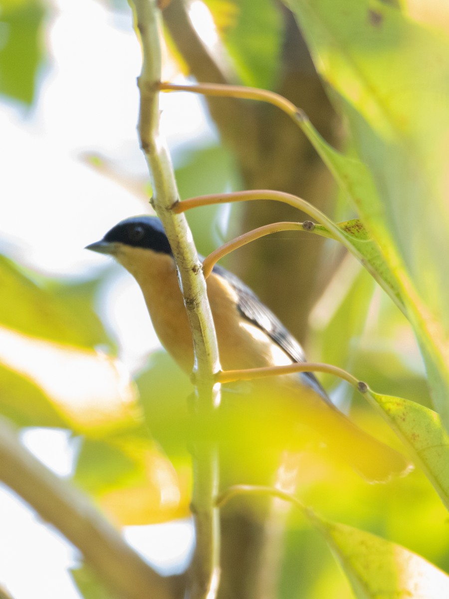
[[82,286],[59,286],[50,291],[32,282],[13,261],[0,256],[0,289],[0,325],[71,346],[91,348],[108,342]]

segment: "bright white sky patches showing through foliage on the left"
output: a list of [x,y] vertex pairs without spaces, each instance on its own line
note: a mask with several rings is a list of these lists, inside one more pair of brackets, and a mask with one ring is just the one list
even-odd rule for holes
[[[0,104],[0,161],[7,165],[0,183],[0,251],[44,273],[92,276],[110,263],[84,246],[120,219],[147,211],[141,199],[80,160],[95,152],[126,174],[147,176],[136,137],[140,49],[130,14],[114,17],[92,0],[54,0],[53,6],[50,60],[37,105],[24,114]],[[196,96],[163,96],[162,110],[175,154],[194,137],[204,143],[213,137]],[[140,292],[117,267],[103,296],[120,356],[133,368],[158,343]],[[64,432],[32,430],[23,440],[54,471],[69,474],[74,448]],[[72,549],[6,489],[0,489],[0,530],[0,584],[15,599],[78,597],[65,572]],[[132,527],[126,536],[165,570],[186,563],[193,541],[189,522]]]

